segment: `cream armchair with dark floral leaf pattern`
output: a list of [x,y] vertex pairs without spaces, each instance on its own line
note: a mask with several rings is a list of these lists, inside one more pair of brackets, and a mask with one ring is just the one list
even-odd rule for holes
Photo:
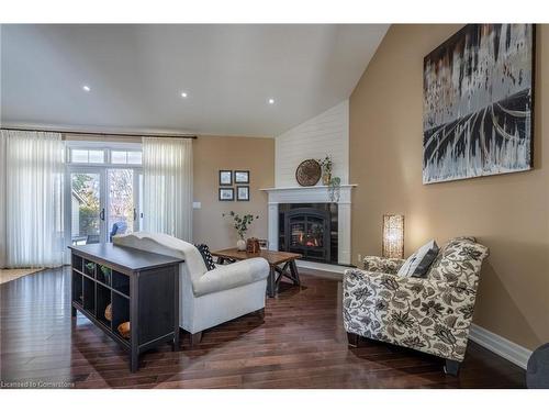
[[349,345],[359,337],[405,346],[446,359],[457,375],[469,338],[482,261],[474,237],[457,237],[438,253],[425,278],[396,276],[403,259],[365,258],[365,270],[344,275],[343,312]]

